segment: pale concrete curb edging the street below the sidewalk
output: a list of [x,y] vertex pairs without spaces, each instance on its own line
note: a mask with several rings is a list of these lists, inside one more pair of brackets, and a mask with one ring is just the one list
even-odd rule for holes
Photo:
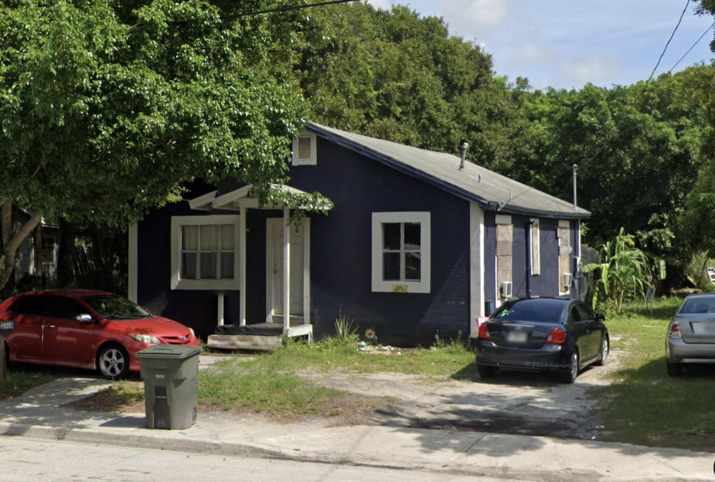
[[[515,473],[504,466],[433,466],[433,464],[400,465],[388,461],[355,461],[342,454],[328,456],[320,453],[290,450],[261,443],[247,441],[216,441],[207,438],[187,437],[180,431],[151,431],[152,433],[131,433],[97,428],[68,428],[63,426],[44,426],[29,423],[0,422],[0,441],[3,437],[23,437],[43,441],[64,441],[70,443],[101,444],[103,446],[121,446],[127,448],[147,448],[152,450],[168,450],[184,453],[209,453],[214,455],[240,456],[247,458],[265,458],[302,463],[332,463],[336,465],[363,466],[372,468],[387,468],[392,470],[418,470],[431,473],[443,473],[463,476],[482,476],[493,478],[511,478],[525,482],[571,482],[573,480],[608,480],[608,477],[596,473],[581,473],[564,469],[559,473]],[[154,433],[155,432],[155,433]],[[171,433],[172,435],[168,435]],[[525,478],[528,477],[528,478]],[[531,477],[533,478],[531,478]],[[586,477],[585,479],[583,477]],[[625,478],[618,477],[619,482],[685,482],[694,480],[711,480],[710,478],[680,478],[673,476],[646,476]]]

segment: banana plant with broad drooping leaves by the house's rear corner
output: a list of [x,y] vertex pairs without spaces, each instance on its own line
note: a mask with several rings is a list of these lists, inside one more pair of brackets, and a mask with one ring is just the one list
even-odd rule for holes
[[651,262],[636,247],[635,236],[626,235],[623,227],[612,241],[598,247],[598,254],[600,263],[590,263],[581,269],[582,272],[595,271],[600,275],[596,281],[593,305],[595,307],[598,302],[598,296],[603,296],[619,313],[626,297],[631,294],[644,296],[651,287]]

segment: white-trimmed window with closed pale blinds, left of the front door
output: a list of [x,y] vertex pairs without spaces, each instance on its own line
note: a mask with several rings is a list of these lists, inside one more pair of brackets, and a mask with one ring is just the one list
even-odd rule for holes
[[238,290],[240,216],[172,217],[172,290]]

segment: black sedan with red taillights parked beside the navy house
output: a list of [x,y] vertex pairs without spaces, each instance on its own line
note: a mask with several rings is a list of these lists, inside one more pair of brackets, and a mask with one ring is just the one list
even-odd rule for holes
[[509,300],[479,325],[477,370],[553,371],[573,383],[581,368],[608,360],[606,317],[563,298]]

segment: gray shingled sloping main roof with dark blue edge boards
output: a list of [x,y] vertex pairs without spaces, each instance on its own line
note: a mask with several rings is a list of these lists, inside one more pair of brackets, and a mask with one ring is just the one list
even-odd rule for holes
[[464,170],[460,171],[460,158],[453,154],[405,146],[320,124],[309,123],[305,128],[335,144],[422,179],[450,194],[475,202],[484,210],[561,219],[591,216],[590,212],[581,207],[573,207],[570,202],[523,185],[473,162],[465,162]]

